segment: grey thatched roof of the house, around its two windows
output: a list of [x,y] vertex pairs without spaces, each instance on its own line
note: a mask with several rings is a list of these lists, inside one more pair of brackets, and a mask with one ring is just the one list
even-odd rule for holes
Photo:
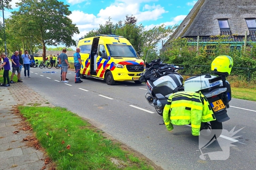
[[256,18],[256,0],[198,0],[170,39],[223,35],[218,19],[228,19],[228,35],[250,35],[246,18]]

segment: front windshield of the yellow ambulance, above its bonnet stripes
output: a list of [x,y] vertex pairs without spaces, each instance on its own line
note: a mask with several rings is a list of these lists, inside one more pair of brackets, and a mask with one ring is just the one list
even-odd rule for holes
[[129,45],[107,44],[110,57],[139,57],[134,48]]

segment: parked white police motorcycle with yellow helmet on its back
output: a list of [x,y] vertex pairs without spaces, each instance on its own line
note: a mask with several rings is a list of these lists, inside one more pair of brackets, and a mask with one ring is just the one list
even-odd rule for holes
[[[211,64],[212,73],[217,75],[196,75],[185,80],[176,71],[183,68],[173,64],[163,64],[161,59],[145,63],[145,71],[139,81],[146,82],[148,92],[145,94],[147,102],[155,108],[159,115],[163,115],[163,108],[170,95],[178,91],[202,92],[210,103],[212,115],[216,120],[201,123],[201,129],[206,129],[206,134],[200,133],[204,138],[212,137],[212,130],[218,129],[216,138],[221,135],[222,122],[229,120],[227,108],[231,100],[231,88],[226,77],[229,76],[233,66],[230,56],[218,56]],[[216,133],[216,131],[214,132]]]

